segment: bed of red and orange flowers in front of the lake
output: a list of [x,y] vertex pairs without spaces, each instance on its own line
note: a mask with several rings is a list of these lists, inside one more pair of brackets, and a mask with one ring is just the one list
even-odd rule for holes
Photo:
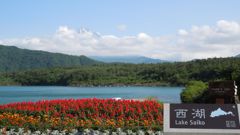
[[155,100],[64,99],[0,105],[1,128],[31,131],[161,130],[163,106]]

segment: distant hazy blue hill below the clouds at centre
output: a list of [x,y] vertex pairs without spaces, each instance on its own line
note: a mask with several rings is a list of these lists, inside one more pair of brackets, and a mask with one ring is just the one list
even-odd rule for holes
[[166,61],[160,59],[152,59],[144,56],[89,56],[92,59],[97,61],[102,61],[106,63],[133,63],[133,64],[140,64],[140,63],[163,63]]

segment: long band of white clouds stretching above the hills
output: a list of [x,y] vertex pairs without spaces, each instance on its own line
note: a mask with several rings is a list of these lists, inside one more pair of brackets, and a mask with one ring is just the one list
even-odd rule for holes
[[227,57],[240,53],[240,24],[220,20],[214,26],[192,26],[170,36],[102,35],[60,26],[49,37],[2,39],[1,44],[71,55],[143,55],[166,60]]

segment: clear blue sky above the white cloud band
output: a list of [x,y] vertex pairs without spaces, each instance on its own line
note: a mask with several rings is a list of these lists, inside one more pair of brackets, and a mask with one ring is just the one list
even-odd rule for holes
[[[2,0],[0,40],[5,44],[19,44],[19,47],[30,49],[45,48],[48,51],[50,49],[46,47],[20,45],[23,44],[20,39],[47,37],[50,40],[61,26],[72,31],[87,28],[92,32],[114,35],[117,38],[137,37],[141,33],[155,38],[166,38],[169,35],[173,38],[178,35],[179,30],[191,31],[193,26],[207,25],[214,29],[221,20],[239,24],[239,5],[239,0]],[[179,39],[174,38],[169,44],[178,42]],[[18,39],[18,42],[10,42],[10,39]],[[55,48],[55,51],[60,50]],[[76,54],[71,51],[63,53]],[[84,55],[92,53],[82,52]],[[139,55],[141,53],[139,51]],[[168,53],[172,53],[171,50]],[[156,58],[182,57],[176,52],[169,57],[149,54],[150,52],[143,53]],[[106,55],[112,54],[106,52]],[[229,55],[234,54],[224,56]],[[189,58],[181,58],[187,59]]]

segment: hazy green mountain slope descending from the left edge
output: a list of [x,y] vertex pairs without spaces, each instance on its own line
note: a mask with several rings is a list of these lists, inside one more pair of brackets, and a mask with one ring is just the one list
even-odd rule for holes
[[20,49],[0,45],[0,72],[35,68],[69,67],[98,63],[86,56],[71,56],[60,53]]

